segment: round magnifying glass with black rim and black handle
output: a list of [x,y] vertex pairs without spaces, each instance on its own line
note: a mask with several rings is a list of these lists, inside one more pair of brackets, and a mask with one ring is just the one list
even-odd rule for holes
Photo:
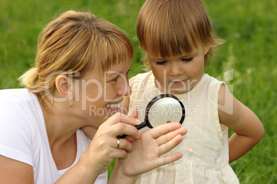
[[[183,124],[185,119],[185,108],[178,97],[171,94],[161,94],[154,97],[145,109],[144,122],[135,126],[138,130],[144,127],[154,128],[161,124],[179,122]],[[124,138],[127,135],[119,135]]]

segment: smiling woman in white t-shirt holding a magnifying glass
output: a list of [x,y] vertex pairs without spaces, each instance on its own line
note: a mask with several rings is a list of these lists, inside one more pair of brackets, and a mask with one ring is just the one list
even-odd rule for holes
[[[20,77],[26,89],[0,91],[0,181],[107,183],[118,158],[110,183],[134,183],[180,159],[180,152],[159,157],[183,140],[179,124],[140,135],[134,125],[141,122],[119,113],[133,54],[118,27],[90,13],[68,11],[50,22],[36,66]],[[83,126],[95,128],[92,141]],[[116,139],[122,134],[130,136]]]

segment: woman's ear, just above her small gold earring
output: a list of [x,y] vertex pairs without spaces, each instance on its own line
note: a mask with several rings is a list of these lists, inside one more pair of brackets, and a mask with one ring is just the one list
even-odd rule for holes
[[61,97],[66,98],[67,100],[73,100],[73,85],[72,85],[72,78],[68,78],[65,75],[59,75],[55,81],[57,91]]

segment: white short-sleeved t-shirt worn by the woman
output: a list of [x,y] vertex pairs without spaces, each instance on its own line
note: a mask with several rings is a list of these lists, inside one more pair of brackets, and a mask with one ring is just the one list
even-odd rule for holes
[[[27,89],[0,90],[0,154],[31,165],[34,183],[55,183],[79,161],[91,140],[81,130],[77,130],[76,138],[74,163],[57,170],[37,95]],[[100,174],[95,183],[107,183],[107,172]]]

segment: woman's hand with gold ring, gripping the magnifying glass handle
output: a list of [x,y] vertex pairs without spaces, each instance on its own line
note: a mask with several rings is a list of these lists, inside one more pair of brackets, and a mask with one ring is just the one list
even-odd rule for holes
[[117,148],[116,136],[125,134],[130,135],[132,139],[139,139],[139,132],[134,127],[138,124],[141,124],[139,119],[116,113],[99,126],[88,150],[81,155],[80,161],[94,174],[105,172],[114,158],[125,159],[127,152],[133,150],[133,144],[126,139],[121,139]]

